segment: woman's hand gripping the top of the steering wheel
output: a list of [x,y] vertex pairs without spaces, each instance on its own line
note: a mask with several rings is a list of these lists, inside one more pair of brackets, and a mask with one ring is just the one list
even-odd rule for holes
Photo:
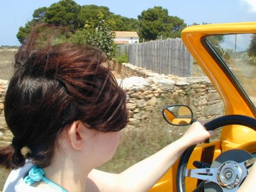
[[207,122],[194,122],[185,134],[182,136],[186,142],[190,145],[196,145],[197,143],[202,143],[212,136],[216,136],[215,131],[206,131],[204,124]]

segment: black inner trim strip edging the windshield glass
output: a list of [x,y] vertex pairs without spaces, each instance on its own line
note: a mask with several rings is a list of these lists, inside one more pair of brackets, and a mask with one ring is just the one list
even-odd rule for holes
[[[225,33],[225,34],[215,34],[216,35],[236,35],[236,34],[246,34],[246,33]],[[232,71],[228,68],[227,64],[223,60],[223,58],[218,54],[218,52],[215,51],[214,47],[212,47],[211,43],[207,40],[208,36],[214,36],[214,35],[205,35],[201,38],[201,43],[204,46],[204,48],[211,54],[214,61],[218,64],[218,66],[223,70],[223,72],[226,74],[230,82],[234,84],[234,87],[236,88],[237,92],[241,95],[244,102],[248,105],[250,110],[252,111],[253,115],[256,116],[256,107],[254,106],[252,100],[248,96],[248,94],[245,92],[243,86],[239,83],[236,76],[232,73]]]

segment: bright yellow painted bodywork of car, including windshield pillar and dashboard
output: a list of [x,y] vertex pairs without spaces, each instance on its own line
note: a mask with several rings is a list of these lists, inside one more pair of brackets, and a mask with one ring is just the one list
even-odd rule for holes
[[[242,34],[256,33],[256,22],[229,23],[229,24],[209,24],[202,26],[189,26],[182,31],[182,41],[191,52],[198,65],[209,77],[211,83],[218,91],[223,100],[226,115],[247,115],[255,118],[255,111],[248,106],[237,90],[236,86],[230,81],[225,72],[216,63],[212,55],[202,44],[202,38],[207,35],[223,34]],[[256,132],[248,127],[241,125],[229,125],[223,127],[220,140],[211,141],[198,145],[191,155],[188,168],[195,168],[193,161],[200,161],[202,150],[209,146],[214,146],[214,157],[216,159],[222,152],[232,148],[240,148],[248,152],[256,152]],[[166,174],[150,189],[150,191],[177,191],[176,173],[178,161],[166,172]],[[189,184],[187,184],[189,183]],[[196,180],[186,178],[186,190],[193,191],[196,188]]]

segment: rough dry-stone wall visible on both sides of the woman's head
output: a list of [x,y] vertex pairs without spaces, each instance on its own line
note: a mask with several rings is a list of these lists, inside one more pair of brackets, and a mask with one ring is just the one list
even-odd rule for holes
[[[188,105],[197,120],[216,118],[224,113],[221,99],[207,77],[164,76],[129,63],[111,63],[111,68],[124,77],[117,81],[127,91],[131,128],[147,121],[156,111],[161,113],[168,104]],[[3,111],[7,86],[8,81],[0,80],[0,142],[12,138]]]

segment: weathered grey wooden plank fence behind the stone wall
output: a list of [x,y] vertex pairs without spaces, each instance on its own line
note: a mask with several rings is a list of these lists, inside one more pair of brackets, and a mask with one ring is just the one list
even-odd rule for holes
[[129,63],[159,74],[192,74],[192,56],[180,38],[120,45],[117,54],[122,53],[128,54]]

